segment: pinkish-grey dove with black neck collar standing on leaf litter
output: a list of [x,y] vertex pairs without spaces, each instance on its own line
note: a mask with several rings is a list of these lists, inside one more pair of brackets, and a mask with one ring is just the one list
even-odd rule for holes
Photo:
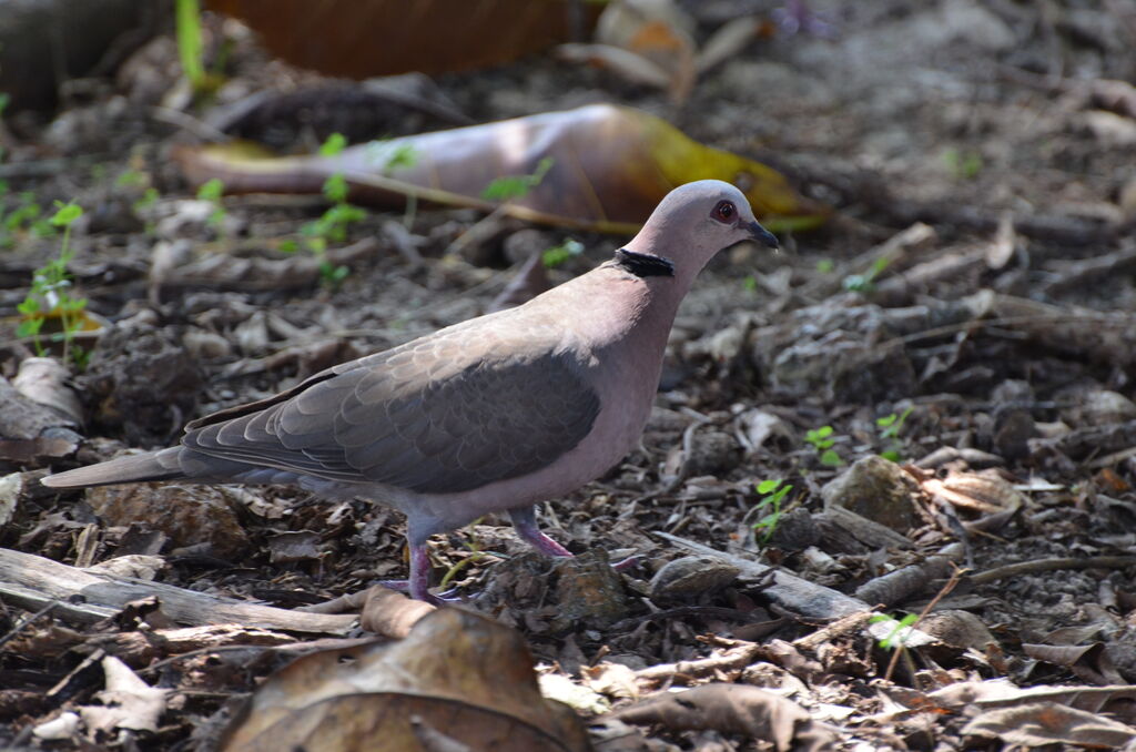
[[406,516],[412,598],[427,540],[490,512],[570,557],[536,504],[603,475],[646,425],[667,337],[695,276],[743,241],[777,248],[729,183],[682,185],[612,259],[516,308],[344,362],[191,421],[181,444],[45,476],[52,488],[147,481],[295,484]]

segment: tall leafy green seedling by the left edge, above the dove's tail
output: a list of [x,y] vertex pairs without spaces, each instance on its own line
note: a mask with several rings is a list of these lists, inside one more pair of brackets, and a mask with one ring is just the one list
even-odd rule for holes
[[35,350],[41,356],[44,354],[45,349],[40,341],[40,332],[49,315],[58,315],[61,331],[53,333],[51,341],[61,341],[64,343],[64,360],[73,359],[80,367],[85,364],[87,353],[84,353],[77,345],[73,345],[72,341],[83,327],[86,299],[72,295],[70,274],[67,271],[67,265],[75,256],[70,248],[72,224],[82,216],[83,209],[78,204],[56,202],[56,214],[49,222],[53,227],[62,228],[64,236],[59,256],[35,270],[27,296],[16,307],[23,316],[16,334],[22,337],[32,337]]

